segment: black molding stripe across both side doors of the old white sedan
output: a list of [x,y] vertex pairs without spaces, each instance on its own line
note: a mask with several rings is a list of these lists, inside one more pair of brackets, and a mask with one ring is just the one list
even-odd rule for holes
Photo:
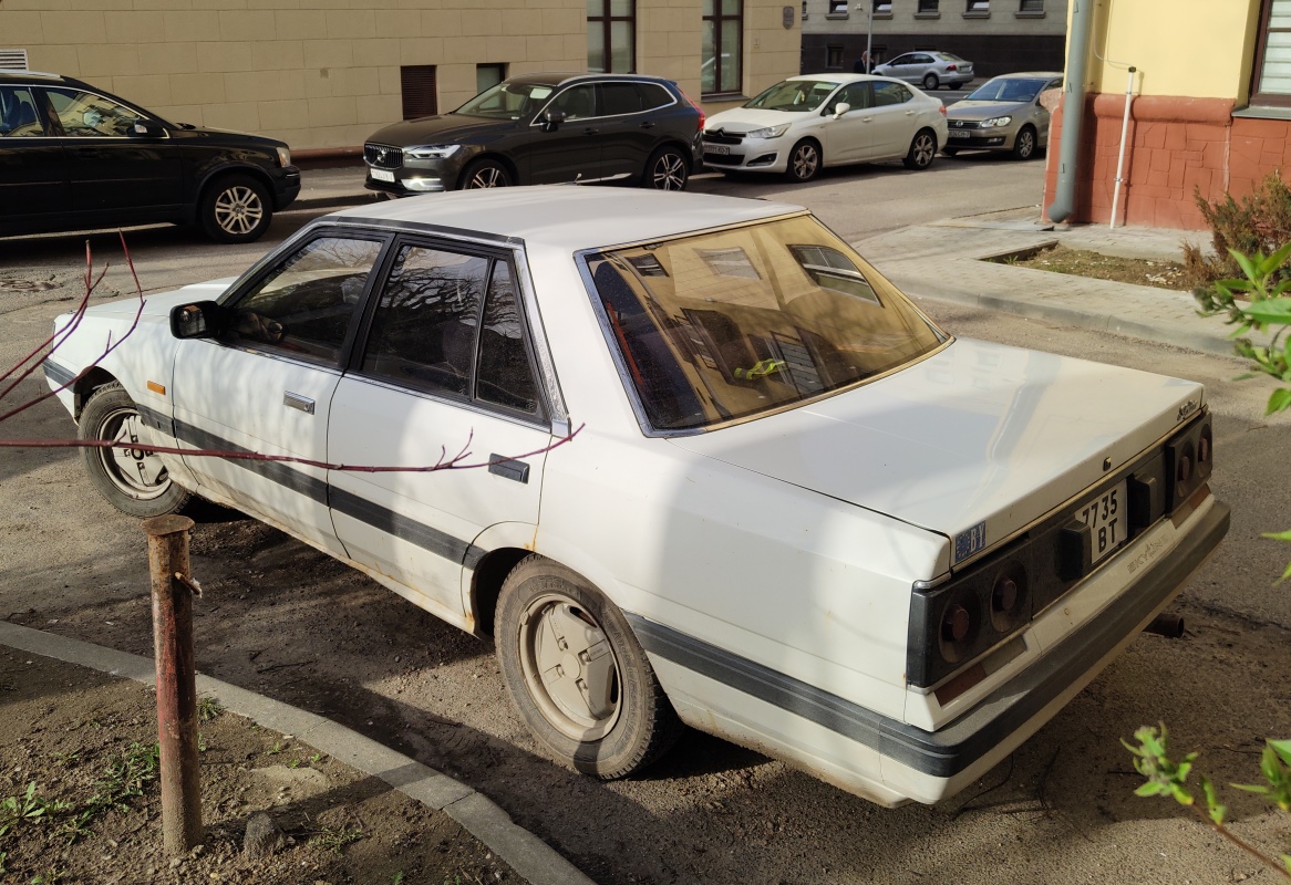
[[[208,433],[207,431],[194,427],[186,422],[177,421],[174,422],[174,426],[177,439],[181,439],[190,445],[195,445],[199,449],[213,449],[216,452],[250,452],[250,449],[235,445],[226,439],[216,436],[214,433]],[[293,492],[298,492],[321,504],[328,504],[346,516],[352,516],[360,522],[365,522],[367,525],[391,534],[395,538],[416,544],[435,556],[443,556],[447,560],[465,565],[467,569],[474,569],[479,565],[479,561],[484,559],[484,553],[488,552],[469,541],[454,538],[440,532],[439,529],[432,529],[423,522],[418,522],[396,513],[389,507],[382,507],[381,504],[373,503],[367,498],[360,498],[351,492],[345,492],[334,485],[328,485],[323,480],[302,473],[283,462],[230,458],[229,463],[236,464],[238,467],[249,470],[254,473],[259,473],[272,482],[278,482],[279,485],[287,486]]]

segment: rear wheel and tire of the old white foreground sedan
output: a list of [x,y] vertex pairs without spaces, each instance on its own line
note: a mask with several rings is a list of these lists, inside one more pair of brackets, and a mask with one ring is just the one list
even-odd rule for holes
[[627,619],[580,574],[525,557],[502,583],[494,623],[511,699],[556,761],[612,781],[649,765],[680,735]]

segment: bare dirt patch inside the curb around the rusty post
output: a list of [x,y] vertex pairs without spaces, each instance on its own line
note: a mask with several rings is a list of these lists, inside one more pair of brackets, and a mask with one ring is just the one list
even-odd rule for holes
[[[152,689],[0,646],[0,882],[523,882],[442,811],[312,747],[199,706],[205,840],[161,846]],[[248,819],[283,832],[243,853]]]

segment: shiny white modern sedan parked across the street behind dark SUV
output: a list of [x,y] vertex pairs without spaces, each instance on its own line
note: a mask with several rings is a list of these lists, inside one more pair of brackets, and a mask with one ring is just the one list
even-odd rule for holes
[[927,169],[945,142],[946,108],[936,98],[891,77],[813,74],[713,115],[704,163],[808,182],[824,166],[874,160]]

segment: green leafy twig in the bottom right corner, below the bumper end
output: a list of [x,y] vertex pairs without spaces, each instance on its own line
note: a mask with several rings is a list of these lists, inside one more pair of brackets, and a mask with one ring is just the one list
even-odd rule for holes
[[[1188,775],[1192,774],[1193,761],[1197,753],[1188,753],[1180,761],[1170,759],[1168,734],[1166,726],[1155,729],[1145,725],[1133,733],[1137,744],[1122,739],[1126,750],[1133,753],[1133,766],[1146,782],[1135,790],[1136,796],[1168,796],[1184,808],[1192,809],[1207,826],[1220,836],[1242,849],[1251,857],[1270,870],[1282,873],[1291,880],[1291,854],[1283,854],[1282,862],[1265,854],[1242,837],[1229,830],[1224,819],[1228,815],[1228,806],[1219,801],[1219,791],[1206,775],[1198,775],[1202,796],[1206,800],[1203,809],[1193,796],[1188,786]],[[1268,741],[1260,760],[1260,773],[1268,782],[1264,784],[1229,784],[1237,790],[1260,793],[1283,811],[1291,811],[1291,741]]]

